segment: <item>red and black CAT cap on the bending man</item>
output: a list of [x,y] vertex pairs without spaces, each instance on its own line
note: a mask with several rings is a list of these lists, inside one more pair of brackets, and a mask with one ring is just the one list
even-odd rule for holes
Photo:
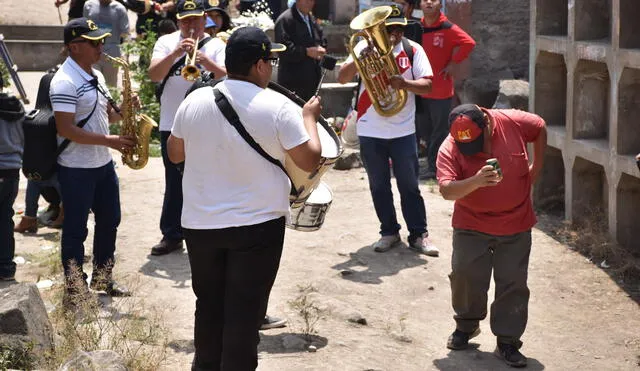
[[484,128],[487,119],[482,108],[475,104],[462,104],[449,114],[449,134],[463,155],[471,156],[484,147]]

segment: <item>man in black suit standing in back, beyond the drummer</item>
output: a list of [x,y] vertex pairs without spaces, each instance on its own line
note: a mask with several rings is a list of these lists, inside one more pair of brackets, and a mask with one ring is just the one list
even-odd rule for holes
[[298,0],[280,14],[275,40],[287,46],[278,65],[278,84],[310,99],[320,83],[320,60],[327,53],[322,28],[311,14],[316,0]]

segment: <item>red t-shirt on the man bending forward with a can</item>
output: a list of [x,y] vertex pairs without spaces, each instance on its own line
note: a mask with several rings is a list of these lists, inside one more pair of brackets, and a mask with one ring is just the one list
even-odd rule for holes
[[531,202],[531,176],[526,144],[535,141],[544,127],[540,116],[518,110],[486,110],[494,122],[493,153],[465,156],[449,135],[440,146],[438,183],[464,180],[475,175],[489,158],[497,158],[502,181],[482,187],[456,200],[452,225],[496,236],[524,232],[536,224]]

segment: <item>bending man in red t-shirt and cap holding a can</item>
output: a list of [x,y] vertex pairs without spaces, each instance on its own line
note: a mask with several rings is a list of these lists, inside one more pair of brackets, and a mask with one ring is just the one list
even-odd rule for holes
[[[527,143],[533,143],[531,164]],[[440,193],[455,200],[449,279],[456,330],[447,341],[449,349],[467,348],[480,333],[493,271],[495,353],[510,366],[527,364],[519,349],[527,324],[527,270],[536,224],[531,187],[542,170],[546,144],[545,122],[532,113],[464,104],[449,115],[449,135],[437,161]],[[489,165],[490,159],[499,166]]]

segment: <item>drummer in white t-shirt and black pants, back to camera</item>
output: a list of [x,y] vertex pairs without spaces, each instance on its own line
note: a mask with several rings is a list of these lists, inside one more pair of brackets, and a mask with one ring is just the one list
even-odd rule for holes
[[258,330],[275,281],[289,218],[287,175],[255,151],[225,119],[214,89],[271,157],[312,171],[320,160],[320,102],[302,109],[273,90],[272,44],[256,27],[229,38],[229,78],[190,93],[176,114],[169,158],[184,161],[182,227],[196,294],[194,370],[254,370]]

